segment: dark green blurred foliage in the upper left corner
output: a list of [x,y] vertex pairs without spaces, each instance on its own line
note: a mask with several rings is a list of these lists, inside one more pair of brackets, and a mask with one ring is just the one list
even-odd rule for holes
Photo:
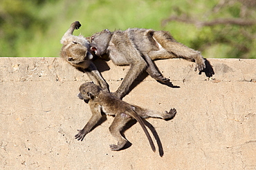
[[37,10],[46,0],[1,0],[0,56],[19,56],[19,46],[33,39],[34,30],[47,30],[48,20],[38,16]]

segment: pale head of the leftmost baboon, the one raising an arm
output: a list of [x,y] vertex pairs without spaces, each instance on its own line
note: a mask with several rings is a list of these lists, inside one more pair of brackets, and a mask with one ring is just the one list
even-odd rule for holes
[[66,48],[66,50],[62,52],[64,53],[62,56],[64,56],[64,59],[71,65],[79,65],[80,63],[93,58],[93,55],[88,52],[87,48],[76,41],[72,41],[68,47],[64,48]]

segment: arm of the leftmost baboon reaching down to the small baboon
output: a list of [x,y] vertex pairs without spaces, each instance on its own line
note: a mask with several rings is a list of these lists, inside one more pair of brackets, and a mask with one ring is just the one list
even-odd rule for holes
[[97,70],[95,65],[91,63],[89,66],[89,72],[86,72],[86,74],[89,76],[89,78],[92,81],[95,81],[95,83],[98,83],[100,87],[102,87],[104,92],[109,92],[109,85],[107,82],[104,80],[100,72]]

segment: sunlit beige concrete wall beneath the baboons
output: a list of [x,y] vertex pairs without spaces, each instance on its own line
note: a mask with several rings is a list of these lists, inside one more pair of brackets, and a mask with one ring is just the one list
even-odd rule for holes
[[[156,61],[174,87],[143,74],[123,99],[176,108],[172,120],[147,119],[154,153],[138,123],[125,131],[131,147],[111,151],[112,117],[75,140],[91,116],[76,96],[89,78],[62,59],[0,58],[0,169],[256,169],[256,60],[208,61],[212,78],[182,59]],[[107,64],[97,63],[114,92],[129,67]]]

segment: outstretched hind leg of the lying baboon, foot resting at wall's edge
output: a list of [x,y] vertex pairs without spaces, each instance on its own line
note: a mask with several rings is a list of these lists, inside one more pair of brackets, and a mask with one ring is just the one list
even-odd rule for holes
[[167,52],[174,54],[176,58],[180,57],[188,61],[195,61],[196,68],[198,68],[199,71],[202,71],[205,68],[205,62],[201,53],[177,42],[169,32],[156,31],[154,32],[153,38],[167,50]]

